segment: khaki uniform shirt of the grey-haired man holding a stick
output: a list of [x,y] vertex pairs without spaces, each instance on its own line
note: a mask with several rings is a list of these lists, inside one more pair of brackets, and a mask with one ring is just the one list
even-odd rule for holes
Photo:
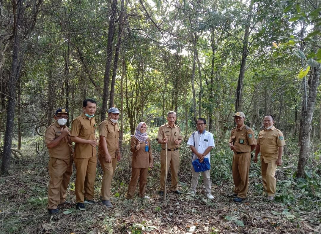
[[[168,138],[167,149],[179,149],[180,144],[175,144],[175,140],[182,140],[183,137],[180,135],[180,127],[174,124],[174,127],[170,127],[169,123],[161,125],[158,129],[157,138],[163,139],[165,136]],[[161,144],[161,148],[165,149],[165,143]]]

